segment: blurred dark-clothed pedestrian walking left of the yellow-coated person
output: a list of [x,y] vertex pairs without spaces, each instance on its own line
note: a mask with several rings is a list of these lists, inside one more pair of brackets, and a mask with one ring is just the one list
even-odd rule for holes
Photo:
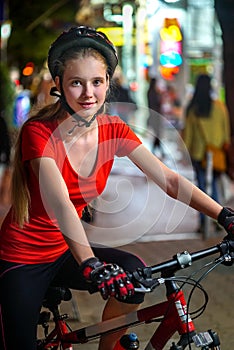
[[149,117],[147,120],[148,128],[153,131],[153,140],[151,145],[151,151],[154,153],[155,149],[159,149],[162,152],[161,137],[162,137],[162,96],[157,86],[157,79],[151,78],[149,88],[147,91],[147,103],[149,108]]

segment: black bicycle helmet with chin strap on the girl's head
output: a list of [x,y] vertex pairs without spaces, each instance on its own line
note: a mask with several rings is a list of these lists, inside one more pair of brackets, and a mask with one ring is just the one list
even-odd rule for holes
[[77,121],[77,126],[89,127],[95,120],[97,113],[90,121],[85,120],[78,115],[67,103],[62,89],[62,74],[59,69],[64,53],[72,49],[74,52],[79,48],[93,48],[98,51],[106,60],[107,73],[110,78],[113,76],[115,68],[118,64],[118,56],[116,49],[108,37],[94,28],[79,26],[71,27],[68,31],[64,31],[51,44],[48,52],[48,69],[55,80],[58,76],[60,80],[61,93],[58,94],[56,87],[52,87],[50,95],[59,97],[63,108]]

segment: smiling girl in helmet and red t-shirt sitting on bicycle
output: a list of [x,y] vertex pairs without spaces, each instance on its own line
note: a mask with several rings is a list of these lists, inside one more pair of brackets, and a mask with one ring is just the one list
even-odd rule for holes
[[[105,113],[117,63],[105,34],[84,26],[63,32],[49,49],[57,100],[20,130],[12,207],[0,230],[1,349],[20,344],[36,350],[37,321],[50,285],[99,292],[107,300],[103,320],[143,302],[127,272],[144,262],[124,250],[91,246],[80,220],[87,203],[103,192],[115,156],[127,156],[166,194],[218,220],[234,237],[233,211],[166,167],[126,123]],[[123,332],[103,336],[99,350],[112,350]]]

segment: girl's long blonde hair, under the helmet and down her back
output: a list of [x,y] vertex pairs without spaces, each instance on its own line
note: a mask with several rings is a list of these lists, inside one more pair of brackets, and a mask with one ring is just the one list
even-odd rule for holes
[[[63,61],[60,61],[60,75],[63,76],[65,64],[70,59],[75,58],[84,58],[93,56],[96,59],[105,62],[104,57],[96,50],[92,48],[79,48],[79,51],[74,52],[74,50],[70,52],[66,52],[63,57]],[[106,64],[107,67],[107,64]],[[48,106],[43,107],[41,110],[32,115],[26,122],[31,122],[34,120],[40,121],[49,121],[49,120],[58,120],[65,118],[67,112],[61,106],[60,100],[52,103]],[[24,124],[24,125],[25,125]],[[13,174],[12,174],[12,189],[11,189],[11,201],[13,208],[13,217],[16,223],[20,227],[23,227],[25,222],[29,220],[29,212],[30,212],[30,193],[28,188],[28,174],[26,170],[25,164],[22,162],[22,130],[24,128],[22,126],[16,143],[14,150],[14,159],[13,159]]]

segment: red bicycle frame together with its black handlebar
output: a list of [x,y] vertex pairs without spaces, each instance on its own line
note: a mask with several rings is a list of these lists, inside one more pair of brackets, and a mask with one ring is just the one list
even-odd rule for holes
[[[158,320],[160,324],[145,347],[145,350],[163,350],[164,346],[175,332],[179,333],[180,340],[177,344],[173,343],[170,350],[183,350],[190,343],[195,343],[197,347],[203,350],[220,349],[219,339],[215,332],[209,330],[204,333],[196,333],[194,323],[187,313],[187,304],[183,290],[178,287],[175,281],[168,279],[168,277],[174,276],[175,271],[189,267],[192,261],[216,253],[221,253],[224,261],[230,262],[233,260],[232,251],[233,247],[230,249],[229,241],[223,241],[217,246],[194,252],[191,255],[188,252],[183,252],[177,254],[172,260],[146,267],[143,269],[145,271],[142,270],[145,276],[149,275],[150,270],[152,274],[161,272],[162,277],[154,279],[153,288],[148,287],[149,281],[145,278],[146,284],[145,286],[143,285],[143,290],[145,292],[151,292],[156,285],[165,282],[167,300],[127,315],[71,331],[65,321],[66,315],[56,314],[57,311],[50,309],[54,315],[55,328],[46,336],[46,339],[41,343],[41,347],[39,346],[38,349],[58,349],[58,346],[61,344],[63,350],[70,350],[72,349],[72,344],[87,343],[104,334],[143,323],[154,322],[155,319],[160,317],[161,319]],[[142,271],[140,276],[138,272],[135,275],[133,274],[134,278],[138,280],[138,282],[140,281],[140,283],[144,279],[142,277]],[[164,280],[165,277],[167,277],[166,280]],[[155,283],[155,281],[157,282]]]

